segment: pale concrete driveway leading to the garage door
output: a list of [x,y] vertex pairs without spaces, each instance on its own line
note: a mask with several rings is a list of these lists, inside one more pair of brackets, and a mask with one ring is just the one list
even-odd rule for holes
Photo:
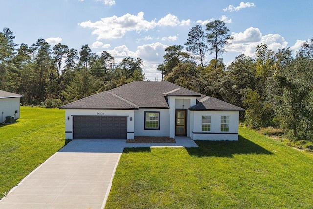
[[125,140],[73,140],[41,164],[0,209],[103,209]]

